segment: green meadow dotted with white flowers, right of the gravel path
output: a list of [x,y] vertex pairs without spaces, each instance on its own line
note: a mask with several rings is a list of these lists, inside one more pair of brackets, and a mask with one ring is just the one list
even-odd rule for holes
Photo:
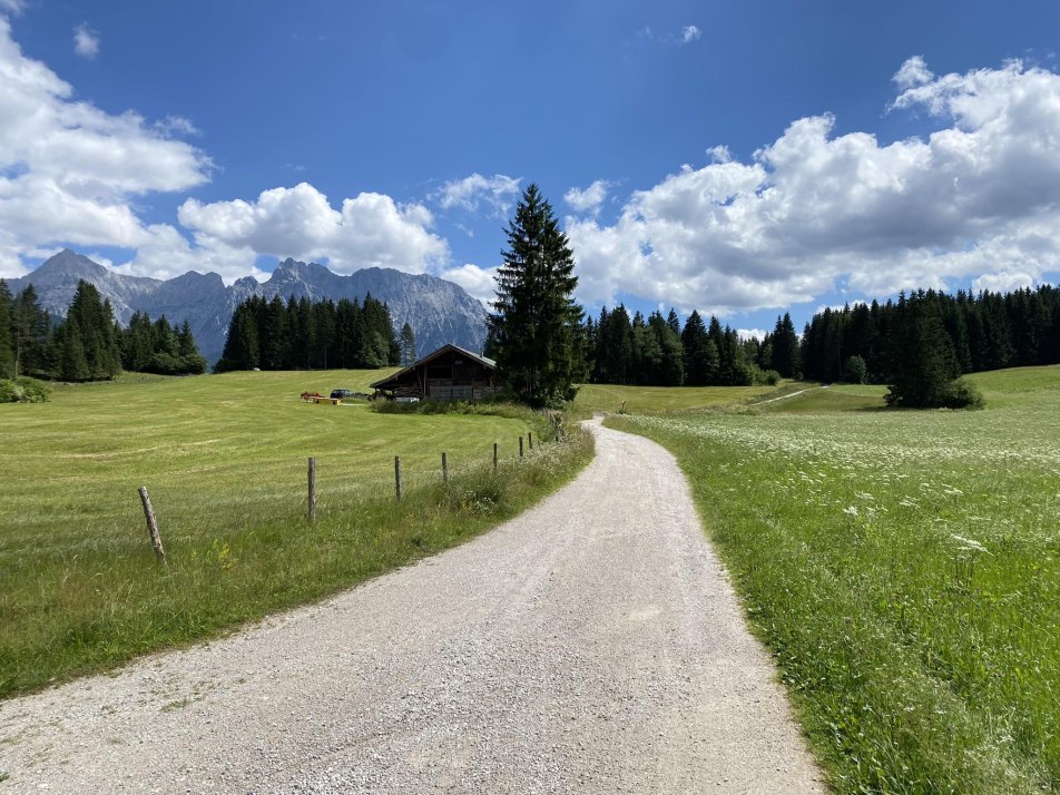
[[1060,788],[1060,367],[609,421],[673,450],[843,793]]

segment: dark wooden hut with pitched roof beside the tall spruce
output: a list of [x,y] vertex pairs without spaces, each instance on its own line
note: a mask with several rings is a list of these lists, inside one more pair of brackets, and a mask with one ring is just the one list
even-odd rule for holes
[[372,387],[376,396],[389,399],[475,401],[493,394],[498,385],[497,362],[492,359],[457,345],[442,345]]

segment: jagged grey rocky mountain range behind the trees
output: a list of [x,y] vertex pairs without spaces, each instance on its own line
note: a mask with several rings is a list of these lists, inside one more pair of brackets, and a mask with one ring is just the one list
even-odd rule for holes
[[153,321],[165,315],[175,325],[187,320],[199,351],[210,363],[220,359],[235,307],[252,295],[337,302],[363,301],[371,294],[390,307],[395,331],[405,323],[412,327],[421,354],[445,343],[481,351],[485,341],[485,308],[481,302],[452,282],[392,268],[370,267],[343,276],[316,263],[288,258],[276,266],[266,282],[245,276],[226,286],[216,273],[189,271],[166,281],[127,276],[67,248],[28,275],[8,279],[8,287],[13,295],[32,284],[41,307],[65,316],[80,279],[109,298],[115,318],[122,325],[135,312],[146,312]]

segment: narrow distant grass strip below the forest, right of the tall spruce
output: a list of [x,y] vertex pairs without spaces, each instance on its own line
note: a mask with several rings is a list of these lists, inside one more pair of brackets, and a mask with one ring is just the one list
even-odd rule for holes
[[773,393],[775,386],[621,386],[583,384],[578,387],[573,411],[579,416],[595,412],[618,414],[665,414],[716,409]]

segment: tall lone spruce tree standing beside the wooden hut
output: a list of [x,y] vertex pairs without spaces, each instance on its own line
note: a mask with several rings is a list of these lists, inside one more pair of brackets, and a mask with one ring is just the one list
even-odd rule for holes
[[582,313],[572,297],[578,277],[567,235],[537,185],[523,192],[506,235],[508,249],[501,252],[497,301],[488,320],[498,371],[531,405],[570,400],[582,369]]

